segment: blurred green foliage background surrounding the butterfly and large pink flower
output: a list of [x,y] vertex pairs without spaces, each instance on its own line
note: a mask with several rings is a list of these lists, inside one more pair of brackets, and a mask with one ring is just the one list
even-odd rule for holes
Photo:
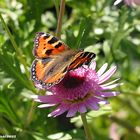
[[[0,0],[0,135],[29,140],[85,140],[79,117],[48,118],[30,99],[38,91],[30,80],[35,33],[55,34],[59,0]],[[97,67],[118,66],[124,85],[110,105],[90,111],[95,140],[140,139],[140,8],[113,0],[66,0],[62,40],[71,48],[97,54]],[[9,29],[9,30],[8,30]],[[10,31],[10,33],[8,32]],[[10,36],[12,35],[12,36]],[[11,42],[12,41],[12,42]]]

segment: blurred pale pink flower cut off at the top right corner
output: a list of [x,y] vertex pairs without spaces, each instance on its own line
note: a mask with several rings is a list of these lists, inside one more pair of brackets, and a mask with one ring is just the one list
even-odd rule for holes
[[114,5],[119,4],[120,2],[124,1],[127,5],[133,6],[133,5],[140,5],[140,0],[116,0],[114,2]]

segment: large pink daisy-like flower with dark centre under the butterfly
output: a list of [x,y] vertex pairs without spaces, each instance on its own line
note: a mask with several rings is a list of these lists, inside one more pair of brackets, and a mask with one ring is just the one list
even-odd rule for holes
[[58,116],[64,112],[67,117],[72,117],[76,112],[85,113],[87,109],[98,110],[99,104],[108,104],[106,97],[116,96],[117,91],[113,88],[121,84],[115,83],[119,79],[108,82],[115,73],[116,66],[112,66],[105,72],[108,64],[104,64],[97,72],[96,62],[92,62],[88,67],[86,65],[73,71],[69,71],[65,78],[57,85],[49,89],[50,94],[44,96],[32,96],[35,101],[42,104],[38,107],[46,108],[57,106],[49,116]]

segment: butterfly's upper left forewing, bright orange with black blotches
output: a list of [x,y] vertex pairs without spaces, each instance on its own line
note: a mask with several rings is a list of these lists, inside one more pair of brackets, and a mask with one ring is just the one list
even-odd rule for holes
[[33,54],[37,58],[47,58],[51,55],[57,55],[68,47],[61,42],[58,38],[48,33],[37,33],[34,40]]

